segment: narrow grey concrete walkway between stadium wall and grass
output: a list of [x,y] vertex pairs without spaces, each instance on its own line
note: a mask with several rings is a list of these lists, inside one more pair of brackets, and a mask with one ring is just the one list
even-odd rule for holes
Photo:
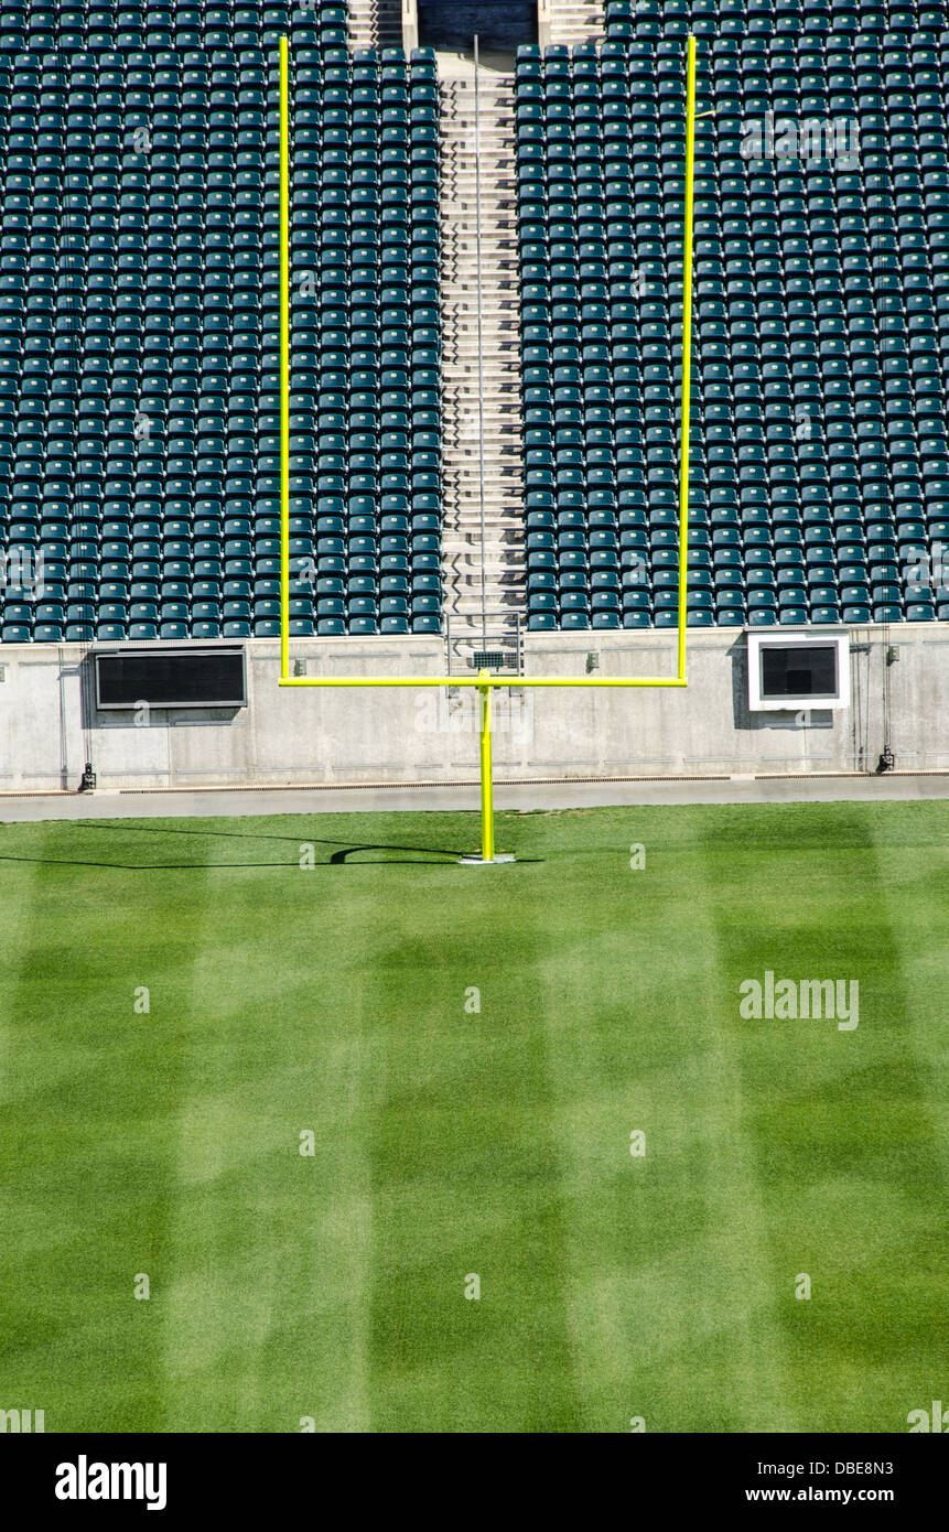
[[[886,777],[722,777],[662,781],[497,781],[495,809],[599,809],[644,803],[882,803],[949,798],[949,772]],[[0,823],[34,820],[163,820],[248,813],[356,813],[477,809],[472,783],[373,783],[363,787],[259,787],[190,792],[3,794]]]

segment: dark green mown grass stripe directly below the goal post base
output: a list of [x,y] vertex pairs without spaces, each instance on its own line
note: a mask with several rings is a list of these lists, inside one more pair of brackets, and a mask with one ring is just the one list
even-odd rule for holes
[[[452,843],[466,844],[457,830],[440,840]],[[500,885],[451,866],[415,882],[411,904],[394,870],[380,884],[366,964],[377,1429],[578,1428],[530,913],[538,879],[553,878],[515,866]]]

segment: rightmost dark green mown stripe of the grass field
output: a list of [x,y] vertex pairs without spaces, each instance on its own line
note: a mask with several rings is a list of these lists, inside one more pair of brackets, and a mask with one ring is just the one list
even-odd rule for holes
[[[852,1031],[834,1019],[733,1028],[790,1405],[814,1431],[905,1429],[909,1354],[921,1347],[932,1359],[946,1333],[923,1276],[937,1227],[932,1097],[911,1046],[875,817],[875,806],[802,806],[788,835],[780,810],[754,809],[740,815],[740,841],[708,838],[721,984],[733,1005],[740,980],[768,968],[860,987]],[[924,806],[891,806],[882,823],[900,838],[928,817]],[[737,826],[734,810],[727,818]],[[906,849],[900,863],[908,872]],[[918,887],[905,893],[926,907]],[[793,1296],[797,1273],[811,1278],[811,1299]]]

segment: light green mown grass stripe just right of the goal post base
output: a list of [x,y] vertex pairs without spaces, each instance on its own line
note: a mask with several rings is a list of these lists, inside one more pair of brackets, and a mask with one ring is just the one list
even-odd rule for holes
[[704,867],[675,812],[610,823],[543,915],[584,1429],[786,1429]]

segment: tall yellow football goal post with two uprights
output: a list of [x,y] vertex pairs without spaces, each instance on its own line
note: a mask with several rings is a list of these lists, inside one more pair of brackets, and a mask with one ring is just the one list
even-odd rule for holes
[[687,686],[685,620],[688,594],[688,444],[691,420],[691,290],[695,224],[695,124],[696,124],[696,40],[687,38],[685,54],[685,237],[682,265],[682,409],[679,443],[679,604],[675,676],[291,676],[290,674],[290,43],[279,43],[279,142],[281,142],[281,686],[320,689],[365,686],[475,686],[480,697],[480,775],[481,775],[481,855],[466,858],[494,864],[494,775],[491,752],[491,692],[498,686]]

